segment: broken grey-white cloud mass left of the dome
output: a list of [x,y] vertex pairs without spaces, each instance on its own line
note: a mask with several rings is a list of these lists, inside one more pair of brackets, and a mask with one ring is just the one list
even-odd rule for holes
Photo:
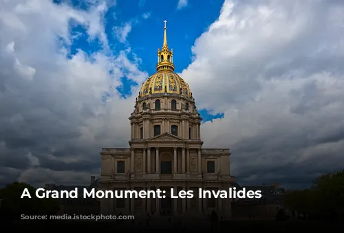
[[[117,88],[123,76],[142,83],[147,74],[139,59],[129,60],[130,48],[109,55],[104,14],[110,1],[95,2],[81,10],[1,1],[0,185],[88,182],[99,174],[101,147],[127,144],[130,126],[122,122],[135,96],[122,98]],[[76,25],[85,29],[85,43],[99,41],[100,50],[69,54],[80,38],[72,32]]]

